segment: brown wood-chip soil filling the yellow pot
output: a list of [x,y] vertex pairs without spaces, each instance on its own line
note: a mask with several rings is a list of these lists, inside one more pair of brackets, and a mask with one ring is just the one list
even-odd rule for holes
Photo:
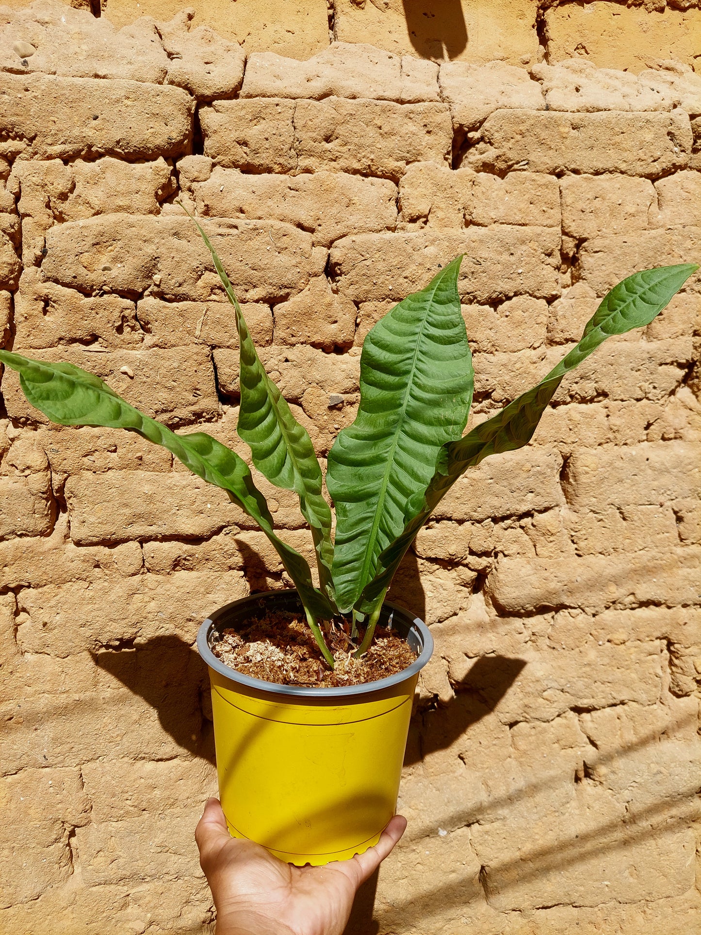
[[378,626],[375,640],[360,659],[353,653],[358,640],[350,640],[345,621],[332,625],[326,642],[336,661],[329,669],[309,629],[306,617],[289,611],[271,611],[215,635],[212,652],[230,669],[264,682],[336,688],[377,682],[407,669],[416,659],[408,642]]

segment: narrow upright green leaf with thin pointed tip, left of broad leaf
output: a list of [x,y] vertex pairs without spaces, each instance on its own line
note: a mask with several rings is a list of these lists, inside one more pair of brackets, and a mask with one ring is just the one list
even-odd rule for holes
[[322,496],[322,468],[314,446],[307,429],[297,422],[278,387],[265,373],[222,261],[200,224],[192,214],[190,217],[212,255],[226,296],[235,309],[241,364],[241,405],[236,430],[249,445],[253,464],[268,481],[299,496],[300,510],[314,541],[319,580],[333,601],[331,509]]

